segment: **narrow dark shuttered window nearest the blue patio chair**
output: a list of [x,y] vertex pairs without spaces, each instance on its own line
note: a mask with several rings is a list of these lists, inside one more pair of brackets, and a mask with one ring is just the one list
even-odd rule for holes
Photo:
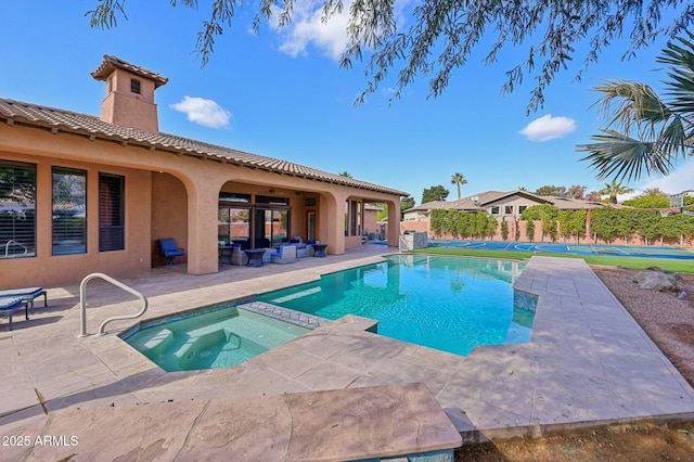
[[125,178],[99,174],[99,252],[126,248],[125,220]]

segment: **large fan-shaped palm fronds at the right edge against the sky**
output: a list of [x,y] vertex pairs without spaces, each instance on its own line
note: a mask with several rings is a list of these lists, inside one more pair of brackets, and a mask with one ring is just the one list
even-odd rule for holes
[[[694,34],[669,42],[657,62],[667,64],[661,100],[647,85],[627,80],[605,80],[595,90],[608,123],[592,144],[580,144],[588,152],[581,158],[591,163],[597,179],[641,178],[642,174],[668,175],[678,157],[693,154],[694,140]],[[614,111],[613,111],[614,103]],[[615,129],[612,129],[614,127]]]

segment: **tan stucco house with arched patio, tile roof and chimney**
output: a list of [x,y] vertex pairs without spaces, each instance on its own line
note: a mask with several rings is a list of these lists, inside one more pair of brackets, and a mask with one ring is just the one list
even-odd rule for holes
[[106,87],[100,117],[0,99],[0,288],[147,269],[164,262],[160,238],[191,274],[218,271],[219,241],[300,235],[343,254],[371,203],[399,223],[406,192],[159,132],[167,78],[110,55],[91,75]]

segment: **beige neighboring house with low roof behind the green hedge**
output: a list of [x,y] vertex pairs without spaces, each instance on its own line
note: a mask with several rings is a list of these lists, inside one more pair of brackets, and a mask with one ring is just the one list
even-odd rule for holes
[[540,196],[526,191],[487,191],[476,195],[463,197],[458,201],[432,201],[404,210],[402,228],[407,228],[411,221],[428,221],[434,209],[461,210],[461,211],[486,211],[499,220],[519,218],[520,214],[534,205],[550,204],[566,210],[580,208],[602,207],[600,202],[586,200],[574,200],[568,197]]

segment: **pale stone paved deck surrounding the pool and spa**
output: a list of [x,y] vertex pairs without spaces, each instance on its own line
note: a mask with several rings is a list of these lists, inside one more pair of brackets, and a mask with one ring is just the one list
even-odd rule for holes
[[[147,296],[150,319],[307,282],[391,253],[364,247],[290,266],[224,267],[204,277],[184,274],[179,266],[120,280]],[[48,308],[37,304],[28,322],[17,317],[12,332],[0,323],[0,435],[60,432],[80,442],[2,446],[0,459],[83,454],[104,438],[111,438],[110,459],[147,444],[180,454],[196,422],[210,409],[231,406],[232,397],[408,383],[425,384],[471,441],[694,419],[694,389],[582,260],[532,257],[515,287],[539,296],[528,344],[478,347],[463,358],[372,334],[363,319],[349,318],[232,369],[175,373],[116,335],[134,321],[108,324],[105,336],[78,338],[78,286],[48,287]],[[102,281],[90,282],[87,294],[92,334],[104,319],[140,308],[134,297]],[[114,409],[129,420],[110,421]]]

